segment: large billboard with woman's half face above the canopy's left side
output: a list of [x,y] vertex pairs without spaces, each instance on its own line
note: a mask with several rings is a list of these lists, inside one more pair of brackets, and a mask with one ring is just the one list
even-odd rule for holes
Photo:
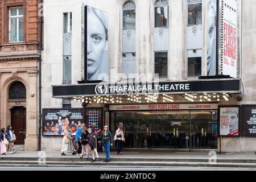
[[108,13],[85,6],[85,80],[104,80],[108,75]]

